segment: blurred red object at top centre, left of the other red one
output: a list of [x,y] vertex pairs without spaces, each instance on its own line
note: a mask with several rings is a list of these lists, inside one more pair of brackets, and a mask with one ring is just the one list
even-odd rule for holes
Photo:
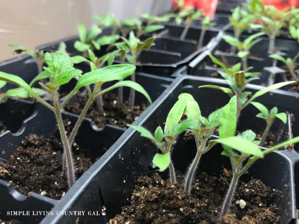
[[[173,6],[179,0],[173,0]],[[214,17],[216,12],[218,0],[184,0],[185,7],[197,7],[197,9],[203,10],[204,16],[210,16],[210,18]]]

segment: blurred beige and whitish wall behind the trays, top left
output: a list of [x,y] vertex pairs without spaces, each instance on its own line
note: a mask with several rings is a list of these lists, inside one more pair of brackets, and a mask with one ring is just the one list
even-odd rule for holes
[[0,61],[13,57],[9,44],[28,49],[77,34],[77,25],[89,28],[97,14],[114,13],[119,20],[142,13],[162,14],[171,0],[12,0],[0,3]]

